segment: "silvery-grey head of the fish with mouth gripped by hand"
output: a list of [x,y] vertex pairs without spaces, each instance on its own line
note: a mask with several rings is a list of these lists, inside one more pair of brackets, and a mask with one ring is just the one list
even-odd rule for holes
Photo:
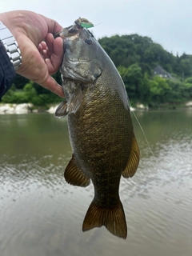
[[101,46],[89,30],[70,26],[63,32],[64,57],[60,72],[63,80],[72,79],[91,85],[102,74]]

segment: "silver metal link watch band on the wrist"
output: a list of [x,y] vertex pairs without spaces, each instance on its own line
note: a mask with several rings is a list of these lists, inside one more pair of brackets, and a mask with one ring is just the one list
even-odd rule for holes
[[21,51],[18,48],[18,42],[14,39],[13,34],[7,29],[5,25],[0,21],[0,41],[5,47],[6,53],[10,58],[10,62],[14,66],[14,70],[18,70],[18,67],[22,64]]

